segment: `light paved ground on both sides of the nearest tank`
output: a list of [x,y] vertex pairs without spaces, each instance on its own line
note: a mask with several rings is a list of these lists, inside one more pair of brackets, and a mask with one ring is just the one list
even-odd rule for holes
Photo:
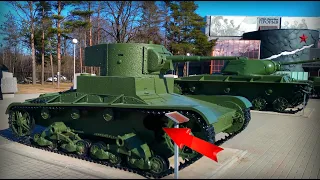
[[[15,95],[14,101],[24,99],[24,95]],[[8,128],[4,111],[12,100],[0,101],[0,130]],[[319,107],[320,100],[312,99],[305,114],[252,112],[247,129],[223,144],[225,151],[218,154],[219,163],[204,157],[182,170],[179,178],[320,178]],[[1,137],[0,161],[0,178],[141,178]],[[173,176],[165,177],[170,178]]]

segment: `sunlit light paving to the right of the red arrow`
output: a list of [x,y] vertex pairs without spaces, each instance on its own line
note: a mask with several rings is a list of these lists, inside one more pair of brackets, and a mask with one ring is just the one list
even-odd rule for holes
[[310,100],[309,117],[252,113],[248,128],[224,147],[248,153],[214,178],[320,178],[320,100]]

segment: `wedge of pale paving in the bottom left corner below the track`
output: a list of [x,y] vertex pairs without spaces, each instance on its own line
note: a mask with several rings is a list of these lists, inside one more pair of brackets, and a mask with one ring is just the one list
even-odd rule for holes
[[[3,141],[1,138],[0,141]],[[0,178],[138,179],[140,176],[15,142],[0,145]]]

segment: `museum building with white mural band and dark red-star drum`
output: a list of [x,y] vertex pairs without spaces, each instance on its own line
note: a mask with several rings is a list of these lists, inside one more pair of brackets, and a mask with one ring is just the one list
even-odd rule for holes
[[[320,58],[319,17],[206,16],[205,34],[217,40],[213,56],[245,56],[292,62]],[[178,65],[178,76],[219,73],[224,61]],[[320,63],[296,64],[288,71],[318,75]]]

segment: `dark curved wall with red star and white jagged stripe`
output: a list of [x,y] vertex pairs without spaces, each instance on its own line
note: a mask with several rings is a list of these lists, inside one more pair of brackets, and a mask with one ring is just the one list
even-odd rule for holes
[[[308,29],[273,29],[243,34],[243,39],[260,40],[260,58],[280,62],[308,60],[310,48],[317,48],[319,31]],[[283,66],[287,71],[304,71],[302,64]]]

